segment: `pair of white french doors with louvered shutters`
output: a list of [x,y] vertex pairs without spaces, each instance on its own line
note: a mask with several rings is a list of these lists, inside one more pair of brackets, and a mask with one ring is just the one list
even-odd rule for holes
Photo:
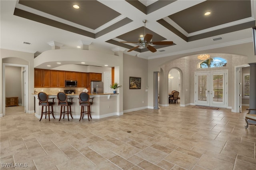
[[196,105],[226,108],[227,71],[196,72]]

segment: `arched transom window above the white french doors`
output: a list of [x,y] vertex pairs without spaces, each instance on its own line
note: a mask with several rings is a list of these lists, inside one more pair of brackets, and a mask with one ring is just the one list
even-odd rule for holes
[[204,61],[200,61],[199,68],[225,67],[227,61],[220,57],[212,57]]

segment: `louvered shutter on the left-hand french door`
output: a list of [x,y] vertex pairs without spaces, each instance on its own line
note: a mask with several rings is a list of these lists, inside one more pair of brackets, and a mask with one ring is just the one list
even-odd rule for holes
[[198,100],[206,101],[207,75],[198,75]]

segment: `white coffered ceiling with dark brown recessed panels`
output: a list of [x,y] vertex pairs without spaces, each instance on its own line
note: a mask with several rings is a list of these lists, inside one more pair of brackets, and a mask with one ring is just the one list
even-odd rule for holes
[[[1,48],[42,53],[52,47],[109,50],[152,59],[252,42],[254,0],[1,0]],[[75,9],[76,4],[80,8]],[[205,16],[205,12],[211,12]],[[127,52],[140,35],[173,41]],[[30,44],[25,44],[27,42]]]

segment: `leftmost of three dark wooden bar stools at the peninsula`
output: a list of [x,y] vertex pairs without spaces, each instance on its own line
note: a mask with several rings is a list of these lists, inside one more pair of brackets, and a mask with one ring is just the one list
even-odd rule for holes
[[[52,114],[52,117],[55,119],[54,114],[53,114],[53,105],[54,105],[55,98],[50,98],[50,99],[52,99],[52,101],[48,101],[49,98],[46,93],[44,93],[44,92],[38,93],[39,105],[42,106],[41,118],[39,121],[41,121],[43,115],[45,115],[45,119],[46,119],[47,114],[49,117],[49,121],[50,121],[50,114]],[[51,106],[51,111],[50,111],[50,106]],[[44,107],[45,107],[45,112],[44,112]],[[47,111],[47,107],[48,107],[48,111]]]

